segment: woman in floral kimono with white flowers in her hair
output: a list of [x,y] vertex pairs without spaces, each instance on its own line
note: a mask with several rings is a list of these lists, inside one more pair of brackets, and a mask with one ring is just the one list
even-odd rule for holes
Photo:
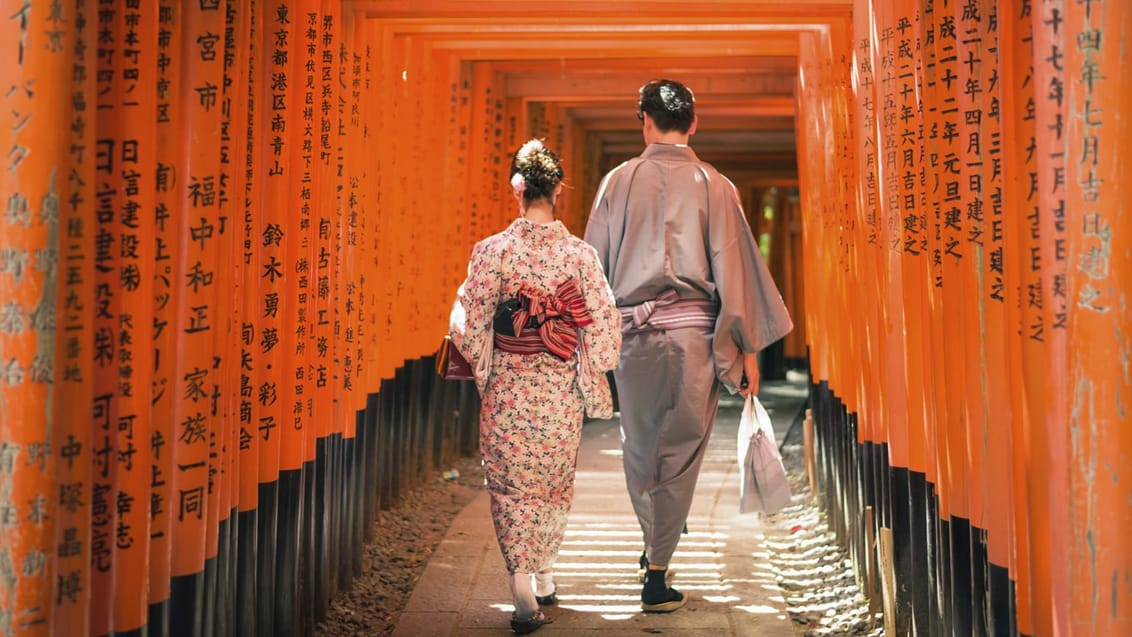
[[[595,377],[617,365],[621,318],[597,252],[555,218],[558,157],[538,139],[512,158],[518,218],[475,244],[457,292],[464,330],[453,341],[473,369],[491,339],[481,396],[480,451],[491,518],[511,573],[511,626],[525,634],[550,620],[551,567],[574,498],[582,437],[578,356]],[[532,576],[533,580],[532,582]]]

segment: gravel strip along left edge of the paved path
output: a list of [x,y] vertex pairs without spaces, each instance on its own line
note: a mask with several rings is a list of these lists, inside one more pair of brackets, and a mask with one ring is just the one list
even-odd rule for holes
[[374,540],[361,556],[362,575],[331,602],[326,619],[315,628],[320,637],[389,635],[417,580],[424,573],[452,520],[483,489],[480,458],[452,463],[458,476],[444,472],[408,492],[374,522]]

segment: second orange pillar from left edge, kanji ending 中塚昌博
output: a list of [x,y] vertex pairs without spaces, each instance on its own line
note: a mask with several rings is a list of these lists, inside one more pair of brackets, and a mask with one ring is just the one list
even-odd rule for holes
[[[94,229],[95,72],[92,62],[95,31],[92,28],[91,8],[82,0],[72,2],[71,9],[62,15],[49,16],[51,28],[46,33],[49,38],[62,33],[62,46],[71,54],[71,74],[69,136],[53,134],[53,138],[69,138],[70,166],[66,187],[62,181],[58,182],[66,190],[60,200],[58,235],[57,272],[62,276],[58,278],[55,296],[55,424],[50,433],[57,449],[59,500],[55,509],[54,592],[46,599],[52,600],[54,606],[55,627],[67,627],[76,635],[85,635],[89,631],[91,619],[91,508],[87,505],[92,476],[91,398],[94,371],[91,348],[94,255],[91,240]],[[58,44],[55,42],[46,50],[61,52]],[[66,85],[66,81],[60,81],[60,85]],[[10,196],[5,193],[3,199],[10,200]],[[7,432],[2,438],[11,440]]]

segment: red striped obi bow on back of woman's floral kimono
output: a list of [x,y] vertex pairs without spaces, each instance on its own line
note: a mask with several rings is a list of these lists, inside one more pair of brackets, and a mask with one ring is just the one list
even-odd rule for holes
[[[505,352],[550,352],[565,361],[577,348],[577,329],[593,322],[573,278],[563,282],[552,294],[543,294],[524,284],[518,291],[518,309],[512,315],[516,336],[495,335],[496,345]],[[532,324],[538,327],[526,327]]]

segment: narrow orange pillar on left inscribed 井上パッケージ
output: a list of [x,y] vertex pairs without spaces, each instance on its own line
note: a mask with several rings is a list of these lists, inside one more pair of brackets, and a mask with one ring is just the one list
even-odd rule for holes
[[152,630],[168,630],[172,577],[172,528],[175,498],[173,484],[174,430],[173,402],[178,398],[177,302],[179,290],[173,257],[180,255],[180,203],[178,169],[185,160],[186,137],[180,134],[181,118],[181,40],[182,19],[174,0],[157,5],[157,146],[156,204],[154,221],[154,317],[153,317],[153,432],[149,447],[149,605]]

